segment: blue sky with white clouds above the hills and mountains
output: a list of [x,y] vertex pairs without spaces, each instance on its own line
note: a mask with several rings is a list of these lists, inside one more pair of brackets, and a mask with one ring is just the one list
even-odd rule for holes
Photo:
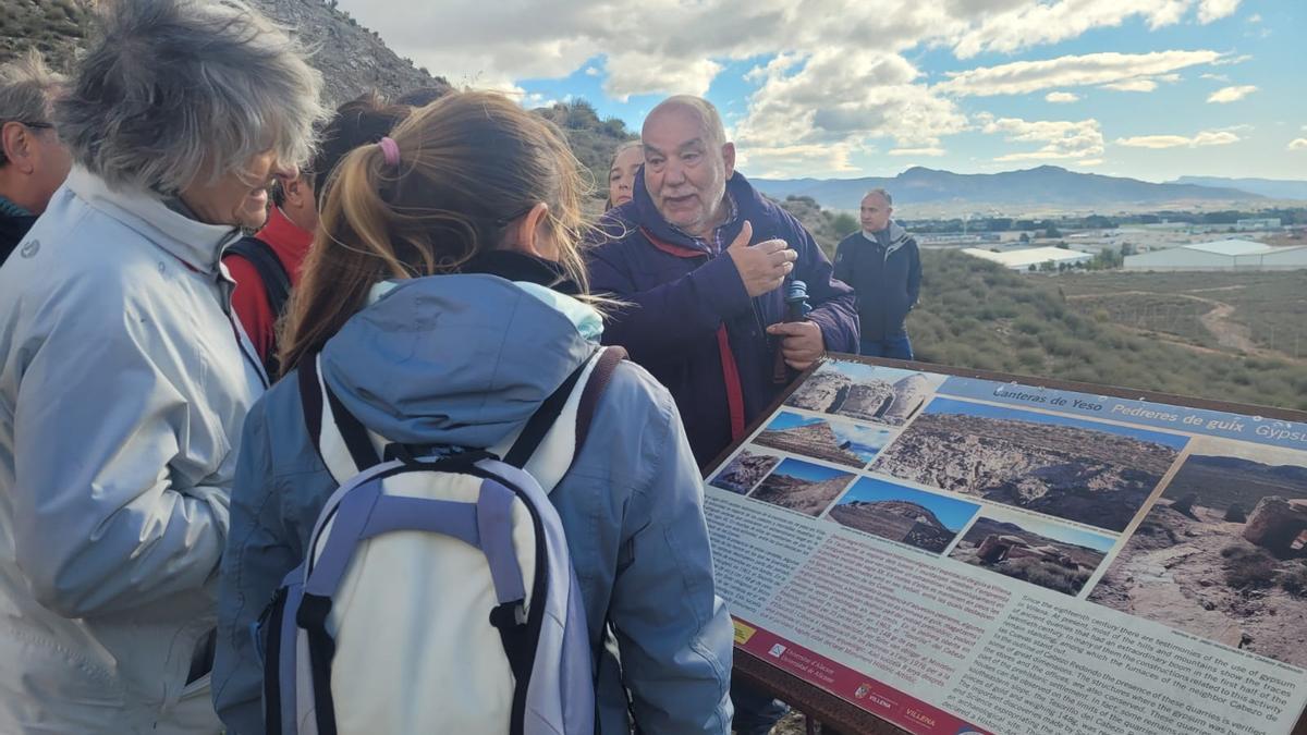
[[1302,0],[340,0],[455,84],[638,129],[704,94],[754,175],[1043,163],[1307,178]]

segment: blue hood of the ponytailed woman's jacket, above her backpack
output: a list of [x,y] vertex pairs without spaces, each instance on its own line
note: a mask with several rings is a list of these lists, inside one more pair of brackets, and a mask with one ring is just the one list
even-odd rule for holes
[[322,353],[341,403],[386,439],[494,446],[599,345],[599,314],[533,282],[460,273],[399,282]]

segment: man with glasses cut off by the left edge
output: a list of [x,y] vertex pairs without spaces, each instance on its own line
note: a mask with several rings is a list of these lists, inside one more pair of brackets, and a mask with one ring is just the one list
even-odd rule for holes
[[0,263],[46,211],[72,166],[50,123],[63,85],[37,51],[0,67]]

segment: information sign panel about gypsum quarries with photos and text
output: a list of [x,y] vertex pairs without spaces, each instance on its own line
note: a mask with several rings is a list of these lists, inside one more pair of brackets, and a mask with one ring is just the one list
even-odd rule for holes
[[920,735],[1294,730],[1300,415],[894,365],[827,360],[707,472],[742,654]]

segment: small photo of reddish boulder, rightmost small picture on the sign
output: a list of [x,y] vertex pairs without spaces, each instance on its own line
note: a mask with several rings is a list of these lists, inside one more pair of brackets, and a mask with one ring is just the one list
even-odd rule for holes
[[[1110,541],[1104,538],[1103,543]],[[980,518],[949,556],[1074,596],[1107,552],[1036,534],[1016,523]]]

